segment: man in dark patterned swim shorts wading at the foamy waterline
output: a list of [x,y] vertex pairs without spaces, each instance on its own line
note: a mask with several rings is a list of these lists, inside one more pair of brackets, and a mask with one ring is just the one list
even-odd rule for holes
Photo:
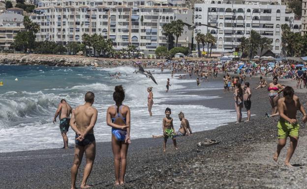
[[60,131],[61,135],[63,137],[63,142],[64,142],[64,147],[65,149],[68,149],[68,137],[66,133],[68,132],[69,129],[69,115],[71,114],[71,107],[67,102],[62,99],[61,103],[59,104],[59,107],[56,111],[56,114],[53,118],[53,124],[57,122],[57,117],[59,115],[60,119]]

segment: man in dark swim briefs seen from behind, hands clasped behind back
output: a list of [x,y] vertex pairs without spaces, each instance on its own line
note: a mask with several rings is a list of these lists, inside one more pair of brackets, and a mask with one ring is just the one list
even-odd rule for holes
[[76,189],[76,177],[84,152],[86,157],[86,165],[81,182],[81,189],[91,187],[86,183],[92,171],[92,165],[96,154],[96,143],[93,128],[97,120],[97,109],[92,107],[94,97],[94,93],[87,92],[84,99],[85,104],[75,108],[72,111],[70,125],[71,129],[76,132],[76,145],[74,160],[71,167],[71,189]]

